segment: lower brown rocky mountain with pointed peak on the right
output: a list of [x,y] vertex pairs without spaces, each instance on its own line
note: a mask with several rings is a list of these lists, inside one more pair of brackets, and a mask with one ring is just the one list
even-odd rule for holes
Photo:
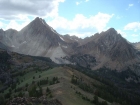
[[95,57],[96,64],[90,65],[92,69],[105,66],[122,71],[133,64],[139,65],[137,50],[113,28],[95,34],[86,41],[85,44],[75,47],[74,55],[82,53]]

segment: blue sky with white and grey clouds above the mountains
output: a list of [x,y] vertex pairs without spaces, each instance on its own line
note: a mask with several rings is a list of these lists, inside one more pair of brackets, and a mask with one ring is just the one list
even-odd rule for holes
[[0,29],[16,29],[36,17],[58,33],[81,38],[114,28],[140,42],[140,0],[0,0]]

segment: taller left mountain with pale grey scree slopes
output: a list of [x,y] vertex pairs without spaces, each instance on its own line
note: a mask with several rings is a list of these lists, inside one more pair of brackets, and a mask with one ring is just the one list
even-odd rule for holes
[[50,57],[56,63],[60,63],[59,58],[67,55],[62,50],[67,48],[67,43],[38,17],[19,32],[1,30],[0,36],[2,44],[21,54]]

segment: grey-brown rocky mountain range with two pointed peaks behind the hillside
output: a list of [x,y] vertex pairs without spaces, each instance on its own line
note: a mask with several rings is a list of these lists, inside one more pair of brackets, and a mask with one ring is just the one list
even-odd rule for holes
[[[58,64],[78,64],[92,70],[107,67],[140,75],[140,44],[131,44],[114,28],[84,39],[60,35],[37,17],[20,31],[0,30],[0,48],[21,54],[50,57]],[[136,47],[135,47],[136,46]]]

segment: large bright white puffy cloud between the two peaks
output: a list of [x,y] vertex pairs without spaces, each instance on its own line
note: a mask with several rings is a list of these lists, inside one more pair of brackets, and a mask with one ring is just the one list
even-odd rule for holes
[[[95,16],[86,17],[83,14],[77,14],[72,20],[67,20],[64,17],[56,17],[52,21],[47,23],[56,29],[61,34],[77,34],[79,37],[84,36],[83,34],[94,34],[101,32],[106,28],[107,23],[113,17],[112,15],[105,13],[98,13]],[[91,33],[89,33],[91,32]]]

